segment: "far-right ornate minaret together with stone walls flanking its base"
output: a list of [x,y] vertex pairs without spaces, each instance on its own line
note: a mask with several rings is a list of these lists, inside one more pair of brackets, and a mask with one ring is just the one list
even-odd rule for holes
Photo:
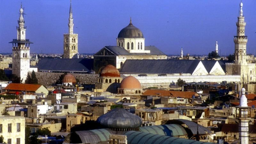
[[234,36],[235,62],[226,63],[226,71],[229,75],[240,75],[240,81],[250,83],[256,81],[256,65],[251,61],[251,55],[246,54],[247,36],[245,36],[245,25],[243,15],[243,3],[240,3],[239,16],[236,26],[237,33]]

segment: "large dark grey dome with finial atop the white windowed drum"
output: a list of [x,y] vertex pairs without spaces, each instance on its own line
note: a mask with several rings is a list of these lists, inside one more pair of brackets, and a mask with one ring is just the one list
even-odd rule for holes
[[144,38],[144,36],[140,29],[134,27],[130,22],[130,24],[127,27],[123,28],[119,32],[117,38]]

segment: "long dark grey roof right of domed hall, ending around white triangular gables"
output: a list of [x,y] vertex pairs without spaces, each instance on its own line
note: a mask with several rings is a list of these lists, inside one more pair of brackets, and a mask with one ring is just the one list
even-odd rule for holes
[[[216,60],[201,60],[209,73]],[[200,60],[126,60],[121,74],[192,74]],[[218,61],[225,72],[225,63]]]

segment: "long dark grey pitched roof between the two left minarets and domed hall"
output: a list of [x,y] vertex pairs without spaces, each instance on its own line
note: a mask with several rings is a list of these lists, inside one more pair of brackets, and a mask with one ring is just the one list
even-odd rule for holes
[[89,73],[93,68],[93,59],[41,59],[39,71]]

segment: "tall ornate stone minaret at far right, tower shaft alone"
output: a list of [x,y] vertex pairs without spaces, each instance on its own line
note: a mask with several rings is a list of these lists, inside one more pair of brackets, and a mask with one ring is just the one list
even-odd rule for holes
[[[248,64],[246,62],[247,36],[244,35],[246,22],[244,22],[243,3],[240,3],[238,20],[236,22],[237,32],[234,36],[235,43],[235,63],[233,65],[233,75],[241,75],[241,82],[247,82]],[[244,77],[243,77],[244,76]]]

